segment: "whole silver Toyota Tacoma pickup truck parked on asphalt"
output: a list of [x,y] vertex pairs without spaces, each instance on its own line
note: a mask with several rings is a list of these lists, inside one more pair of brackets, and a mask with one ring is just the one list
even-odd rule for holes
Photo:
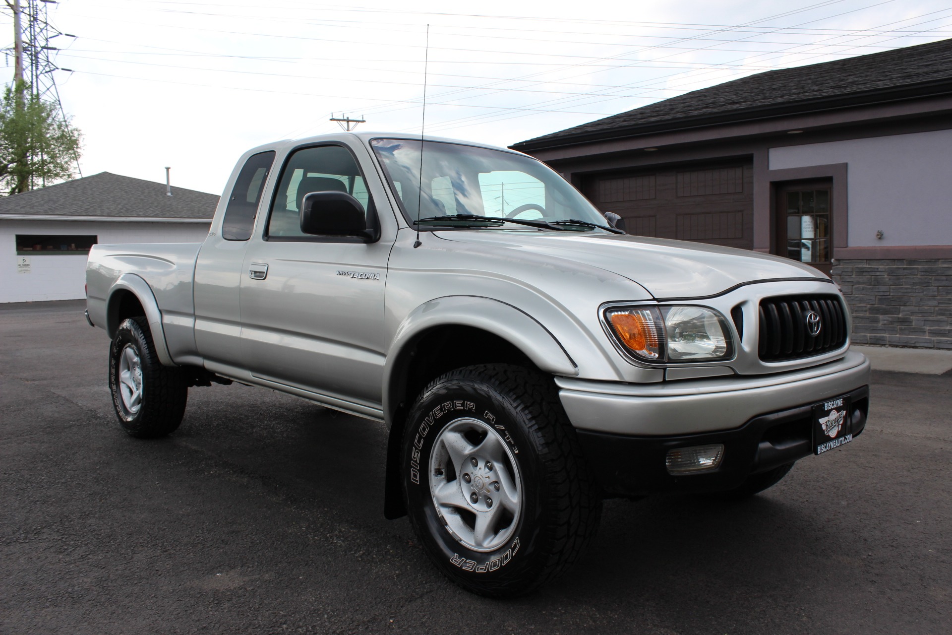
[[605,497],[750,496],[865,426],[827,277],[619,226],[519,152],[281,141],[241,157],[204,243],[92,248],[87,316],[132,436],[212,382],[384,422],[387,517],[512,596],[578,559]]

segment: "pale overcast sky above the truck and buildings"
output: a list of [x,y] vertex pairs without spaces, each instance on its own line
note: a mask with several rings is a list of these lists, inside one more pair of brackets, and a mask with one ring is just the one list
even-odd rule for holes
[[[24,0],[25,1],[25,0]],[[334,131],[507,146],[744,75],[952,36],[947,0],[60,0],[63,107],[101,171],[221,193],[244,150]],[[399,9],[394,9],[399,6]],[[5,9],[0,38],[12,47]],[[583,13],[583,11],[585,11]],[[3,79],[12,77],[7,59]]]

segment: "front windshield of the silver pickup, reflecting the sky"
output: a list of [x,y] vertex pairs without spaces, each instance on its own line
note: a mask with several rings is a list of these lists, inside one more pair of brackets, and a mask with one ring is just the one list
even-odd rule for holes
[[607,224],[582,194],[540,161],[504,150],[425,143],[421,183],[419,140],[370,142],[411,225],[455,214]]

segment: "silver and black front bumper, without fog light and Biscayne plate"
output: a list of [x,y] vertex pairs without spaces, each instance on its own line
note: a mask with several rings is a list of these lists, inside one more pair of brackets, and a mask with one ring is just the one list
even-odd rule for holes
[[[557,379],[569,420],[609,494],[716,491],[812,453],[812,407],[849,395],[854,438],[866,425],[870,367],[859,353],[783,375],[642,386]],[[624,390],[624,392],[623,392]],[[671,449],[724,444],[717,469],[674,476]]]

